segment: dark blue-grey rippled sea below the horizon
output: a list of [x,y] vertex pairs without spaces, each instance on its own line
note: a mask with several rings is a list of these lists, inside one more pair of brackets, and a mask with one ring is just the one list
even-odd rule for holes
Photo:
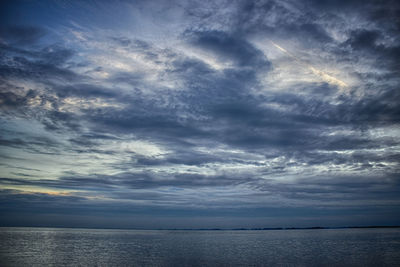
[[0,266],[400,266],[400,229],[0,228]]

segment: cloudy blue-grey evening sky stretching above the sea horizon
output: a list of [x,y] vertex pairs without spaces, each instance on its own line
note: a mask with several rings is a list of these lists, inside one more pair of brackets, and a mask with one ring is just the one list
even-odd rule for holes
[[0,226],[400,225],[398,1],[1,1]]

